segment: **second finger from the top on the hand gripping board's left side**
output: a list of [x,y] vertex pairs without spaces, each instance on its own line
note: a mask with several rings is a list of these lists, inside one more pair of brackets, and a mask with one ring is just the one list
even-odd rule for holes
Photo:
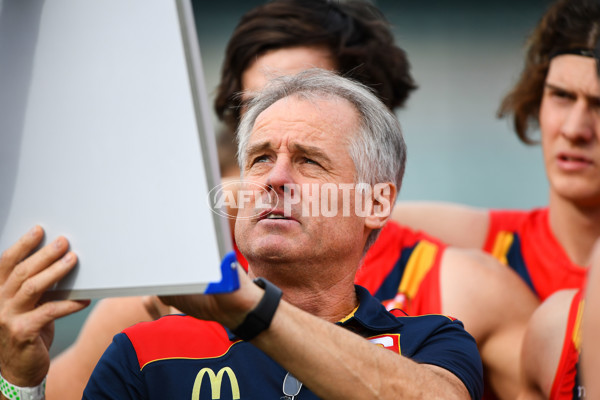
[[[37,275],[41,271],[54,265],[57,260],[61,259],[69,249],[69,242],[64,237],[56,238],[52,243],[44,246],[34,254],[17,264],[13,268],[12,273],[8,276],[4,287],[4,295],[12,295],[20,290],[21,286],[31,277]],[[73,262],[74,254],[65,255],[62,260],[71,267],[75,265]],[[56,269],[56,268],[55,268]],[[51,283],[52,285],[52,283]],[[47,289],[47,288],[46,288]]]

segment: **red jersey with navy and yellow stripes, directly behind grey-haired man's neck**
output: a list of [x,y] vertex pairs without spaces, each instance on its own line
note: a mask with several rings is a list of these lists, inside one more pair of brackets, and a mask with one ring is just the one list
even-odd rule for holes
[[389,221],[365,255],[355,283],[388,309],[441,314],[440,260],[445,248],[438,239]]

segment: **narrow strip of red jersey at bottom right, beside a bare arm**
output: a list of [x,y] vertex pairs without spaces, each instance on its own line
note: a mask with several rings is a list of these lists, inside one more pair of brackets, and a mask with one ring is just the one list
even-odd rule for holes
[[583,296],[579,290],[569,308],[569,318],[567,320],[567,331],[563,343],[562,353],[552,391],[551,400],[575,400],[585,398],[585,389],[579,382],[578,363],[581,353],[581,315],[583,312]]

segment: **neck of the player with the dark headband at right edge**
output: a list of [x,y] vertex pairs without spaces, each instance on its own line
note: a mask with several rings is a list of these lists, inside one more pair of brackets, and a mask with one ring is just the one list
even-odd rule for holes
[[577,265],[588,266],[594,243],[600,237],[600,207],[581,207],[550,195],[550,228]]

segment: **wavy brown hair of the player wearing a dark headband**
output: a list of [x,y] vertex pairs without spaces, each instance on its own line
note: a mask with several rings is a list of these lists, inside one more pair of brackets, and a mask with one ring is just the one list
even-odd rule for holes
[[552,55],[576,48],[593,50],[599,36],[599,0],[559,0],[544,14],[528,41],[521,77],[498,110],[499,117],[513,115],[514,129],[522,142],[537,143],[529,136],[529,128],[531,123],[535,127],[539,125],[544,83]]

